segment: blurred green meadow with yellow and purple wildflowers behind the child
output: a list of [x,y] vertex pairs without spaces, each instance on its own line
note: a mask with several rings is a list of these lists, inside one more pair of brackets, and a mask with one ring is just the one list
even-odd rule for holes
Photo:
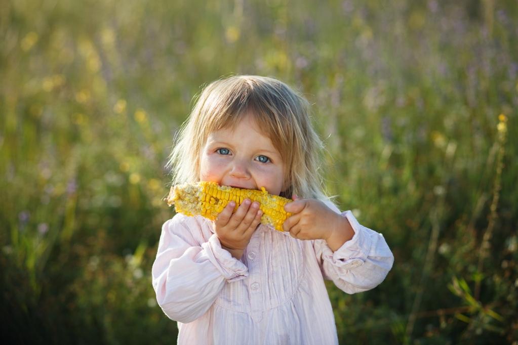
[[3,339],[176,341],[163,167],[200,85],[247,73],[314,104],[329,193],[395,254],[372,291],[328,285],[340,341],[516,344],[516,22],[511,0],[4,2]]

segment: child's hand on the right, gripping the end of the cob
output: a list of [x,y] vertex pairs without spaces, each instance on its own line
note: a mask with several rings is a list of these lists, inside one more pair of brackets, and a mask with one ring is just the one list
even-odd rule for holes
[[282,229],[298,239],[325,239],[332,250],[337,250],[354,236],[349,221],[316,199],[298,199],[284,205],[292,216],[284,221]]

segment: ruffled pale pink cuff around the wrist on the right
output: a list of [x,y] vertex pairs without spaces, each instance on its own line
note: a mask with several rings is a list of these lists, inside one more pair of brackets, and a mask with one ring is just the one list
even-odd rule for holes
[[324,242],[322,256],[325,260],[332,262],[338,267],[353,268],[361,266],[369,254],[371,238],[368,231],[358,223],[351,211],[342,212],[341,216],[346,218],[351,224],[354,236],[335,252]]

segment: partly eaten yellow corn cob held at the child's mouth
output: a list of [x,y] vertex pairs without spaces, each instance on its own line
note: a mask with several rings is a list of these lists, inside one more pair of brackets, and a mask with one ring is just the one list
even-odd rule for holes
[[214,220],[230,201],[236,202],[236,211],[247,198],[260,204],[259,208],[263,211],[261,223],[283,231],[282,223],[291,216],[291,213],[284,211],[284,205],[292,200],[268,194],[264,187],[255,190],[220,186],[213,182],[187,183],[172,186],[166,201],[169,206],[175,204],[178,213]]

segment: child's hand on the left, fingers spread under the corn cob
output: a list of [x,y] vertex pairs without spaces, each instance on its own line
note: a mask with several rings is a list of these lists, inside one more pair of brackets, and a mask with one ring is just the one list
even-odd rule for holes
[[250,199],[245,199],[237,211],[233,212],[235,206],[236,203],[231,201],[223,208],[214,221],[214,232],[220,240],[221,247],[239,260],[261,222],[263,212],[259,209],[259,203],[251,203]]

